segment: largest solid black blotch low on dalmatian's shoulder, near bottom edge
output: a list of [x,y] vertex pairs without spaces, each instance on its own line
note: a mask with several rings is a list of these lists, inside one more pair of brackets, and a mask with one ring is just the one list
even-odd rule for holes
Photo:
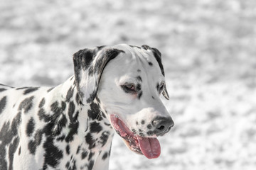
[[45,149],[43,169],[47,166],[56,168],[61,158],[63,158],[63,151],[58,149],[53,143],[53,137],[47,137],[46,142],[43,143]]

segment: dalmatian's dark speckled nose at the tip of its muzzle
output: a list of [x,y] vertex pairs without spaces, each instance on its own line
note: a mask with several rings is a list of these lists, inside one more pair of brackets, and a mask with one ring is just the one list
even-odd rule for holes
[[154,134],[162,136],[171,130],[174,126],[174,120],[171,117],[157,117],[152,121],[152,124],[155,128]]

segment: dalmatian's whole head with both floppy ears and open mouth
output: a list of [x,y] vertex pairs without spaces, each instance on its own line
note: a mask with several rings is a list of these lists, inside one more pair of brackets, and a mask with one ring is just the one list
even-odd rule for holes
[[82,103],[100,102],[129,149],[149,159],[159,157],[156,137],[174,126],[160,99],[169,95],[159,50],[148,45],[101,46],[80,50],[73,60]]

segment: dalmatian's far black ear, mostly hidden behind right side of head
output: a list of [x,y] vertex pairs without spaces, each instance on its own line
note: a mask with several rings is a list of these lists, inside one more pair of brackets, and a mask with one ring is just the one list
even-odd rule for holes
[[[157,50],[156,48],[154,47],[149,47],[149,45],[142,45],[142,47],[144,48],[144,50],[151,50],[153,52],[153,55],[156,59],[156,61],[158,62],[159,64],[159,67],[161,69],[161,74],[163,74],[164,76],[164,66],[161,62],[161,52],[159,52],[159,50]],[[163,96],[169,100],[169,94],[168,94],[168,91],[166,89],[166,85],[164,84],[164,89],[163,89],[163,92],[162,92]]]

